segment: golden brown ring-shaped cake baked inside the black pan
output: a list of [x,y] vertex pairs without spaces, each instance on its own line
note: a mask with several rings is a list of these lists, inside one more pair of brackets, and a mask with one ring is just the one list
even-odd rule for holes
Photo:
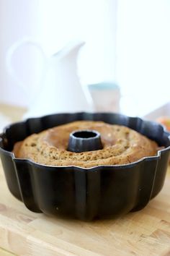
[[[93,129],[100,133],[102,150],[73,153],[67,149],[71,132]],[[28,158],[48,166],[120,165],[156,155],[158,145],[133,129],[103,121],[73,121],[39,134],[30,135],[14,145],[17,158]]]

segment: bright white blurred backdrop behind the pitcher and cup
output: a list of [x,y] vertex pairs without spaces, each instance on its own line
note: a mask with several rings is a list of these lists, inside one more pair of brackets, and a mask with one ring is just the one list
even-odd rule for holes
[[12,62],[30,95],[5,64],[7,49],[23,37],[39,41],[48,56],[69,40],[86,40],[81,82],[116,81],[126,114],[145,114],[169,101],[169,0],[1,0],[0,102],[27,106],[40,77],[40,54],[25,46]]

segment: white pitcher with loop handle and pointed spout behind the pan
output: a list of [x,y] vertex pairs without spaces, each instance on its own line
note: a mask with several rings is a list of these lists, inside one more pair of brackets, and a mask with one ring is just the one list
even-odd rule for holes
[[40,85],[36,86],[37,93],[24,118],[60,112],[91,111],[93,106],[91,95],[88,88],[81,85],[77,74],[77,56],[84,42],[68,43],[50,58],[45,56],[42,47],[35,40],[25,38],[14,43],[6,55],[7,68],[17,81],[17,85],[29,95],[27,85],[24,85],[12,67],[14,52],[24,44],[35,46],[44,59]]

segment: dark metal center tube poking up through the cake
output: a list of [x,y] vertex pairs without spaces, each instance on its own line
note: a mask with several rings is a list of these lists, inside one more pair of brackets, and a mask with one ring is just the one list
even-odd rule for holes
[[102,148],[102,140],[99,132],[86,129],[71,132],[67,150],[81,153],[91,150],[101,150]]

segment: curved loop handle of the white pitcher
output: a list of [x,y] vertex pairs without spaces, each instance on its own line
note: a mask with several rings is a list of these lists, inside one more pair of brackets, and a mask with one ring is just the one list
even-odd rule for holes
[[27,44],[30,44],[30,45],[38,48],[38,50],[40,51],[40,54],[42,55],[42,57],[44,59],[44,63],[45,63],[44,66],[42,67],[42,75],[40,76],[40,80],[37,83],[37,85],[35,85],[36,87],[41,85],[42,77],[45,72],[45,68],[46,68],[47,60],[48,60],[42,46],[40,46],[40,43],[37,43],[37,41],[33,40],[32,38],[22,38],[20,40],[17,40],[15,43],[12,44],[12,46],[9,47],[9,49],[7,50],[7,53],[6,53],[6,67],[8,69],[9,74],[11,74],[12,77],[14,78],[14,80],[17,82],[17,85],[19,85],[19,87],[22,88],[22,90],[24,90],[24,93],[28,93],[27,86],[24,84],[24,82],[22,82],[22,80],[17,76],[16,72],[14,71],[14,67],[12,66],[12,56],[13,56],[14,52],[17,51],[17,49],[20,46],[24,46]]

